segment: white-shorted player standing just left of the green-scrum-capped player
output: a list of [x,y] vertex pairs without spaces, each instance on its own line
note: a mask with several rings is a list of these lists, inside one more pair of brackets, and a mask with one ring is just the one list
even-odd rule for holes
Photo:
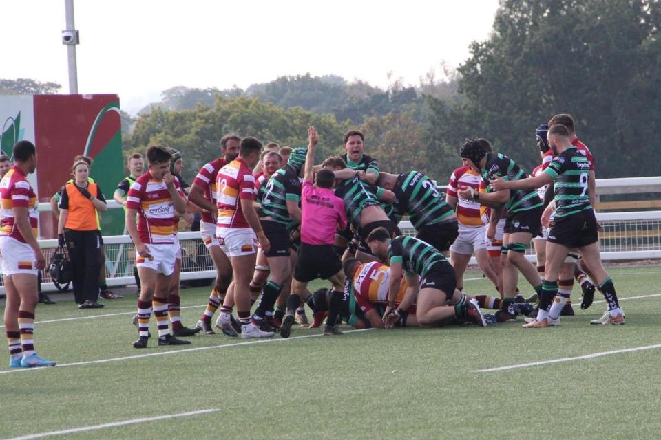
[[220,248],[229,256],[234,276],[234,295],[225,297],[216,323],[224,333],[229,332],[232,326],[232,309],[236,305],[242,338],[270,338],[274,334],[253,325],[248,290],[255,269],[257,242],[259,241],[266,254],[271,250],[271,243],[266,238],[253,207],[255,177],[251,173],[251,167],[260,159],[261,150],[262,143],[255,137],[244,137],[240,142],[239,156],[220,168],[216,176],[216,236],[220,241]]

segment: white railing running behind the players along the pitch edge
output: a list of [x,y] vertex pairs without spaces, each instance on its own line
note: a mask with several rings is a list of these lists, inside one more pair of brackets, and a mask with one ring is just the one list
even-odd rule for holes
[[[597,188],[604,192],[617,193],[661,191],[661,177],[638,177],[633,179],[597,179]],[[439,189],[445,189],[439,186]],[[635,189],[632,189],[635,188]],[[121,208],[115,201],[108,201],[108,208]],[[49,203],[39,203],[39,210],[50,211]],[[599,241],[604,260],[661,259],[661,211],[646,212],[607,212],[598,213],[597,219],[604,227]],[[412,235],[414,230],[410,221],[401,221],[399,227],[403,234]],[[182,247],[182,281],[213,278],[216,270],[207,249],[202,243],[200,232],[180,232]],[[129,236],[104,236],[107,283],[109,286],[130,285],[134,283],[133,267],[135,249]],[[50,261],[50,256],[57,247],[57,240],[39,240],[39,244]],[[527,251],[527,258],[534,261],[534,252]],[[474,264],[472,259],[472,264]],[[48,272],[44,271],[42,288],[54,290]],[[4,287],[0,287],[4,293]]]

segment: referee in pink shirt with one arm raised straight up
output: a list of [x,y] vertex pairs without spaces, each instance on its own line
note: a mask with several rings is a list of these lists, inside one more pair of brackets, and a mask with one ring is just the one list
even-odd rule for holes
[[313,184],[313,161],[317,145],[317,131],[308,129],[308,151],[305,158],[302,184],[301,245],[291,283],[291,295],[287,300],[287,313],[282,319],[280,336],[288,338],[295,320],[295,310],[301,298],[307,298],[307,285],[317,278],[328,279],[333,285],[330,292],[329,313],[324,335],[339,335],[337,311],[342,303],[344,276],[342,263],[333,249],[335,232],[346,228],[346,212],[342,199],[333,194],[335,175],[330,170],[319,170]]

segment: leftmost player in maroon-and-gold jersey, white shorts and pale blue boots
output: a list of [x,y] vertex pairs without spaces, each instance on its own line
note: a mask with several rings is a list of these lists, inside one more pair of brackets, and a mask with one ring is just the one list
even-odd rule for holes
[[34,311],[37,300],[37,272],[46,260],[36,241],[39,213],[37,199],[28,179],[36,169],[34,144],[14,144],[14,166],[0,180],[0,253],[6,288],[5,330],[11,368],[54,366],[34,351]]

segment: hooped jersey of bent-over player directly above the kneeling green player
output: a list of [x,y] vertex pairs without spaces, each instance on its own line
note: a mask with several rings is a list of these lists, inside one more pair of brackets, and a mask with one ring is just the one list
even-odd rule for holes
[[397,211],[408,214],[415,229],[440,223],[454,214],[434,182],[418,171],[400,174],[393,192],[397,196]]

